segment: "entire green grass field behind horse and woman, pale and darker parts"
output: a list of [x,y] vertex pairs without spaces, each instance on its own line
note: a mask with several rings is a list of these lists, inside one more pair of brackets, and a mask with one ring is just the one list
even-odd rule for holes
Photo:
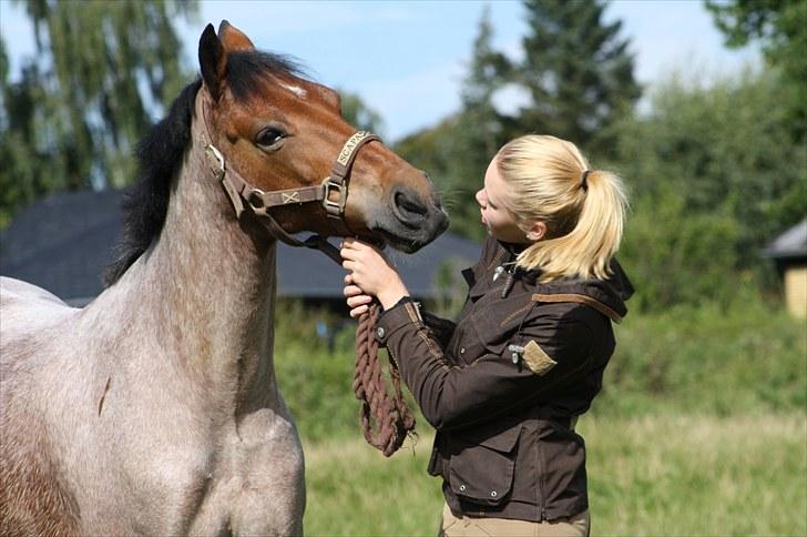
[[[353,334],[329,354],[278,320],[280,388],[306,455],[308,535],[436,535],[433,432],[391,458],[365,444]],[[308,323],[308,324],[307,324]],[[807,324],[760,304],[627,317],[588,445],[592,535],[807,536]]]

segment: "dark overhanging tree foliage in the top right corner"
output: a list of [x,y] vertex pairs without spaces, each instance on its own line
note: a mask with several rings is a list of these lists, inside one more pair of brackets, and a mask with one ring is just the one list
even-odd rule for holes
[[789,89],[788,109],[794,135],[807,134],[807,1],[733,0],[706,1],[728,47],[759,40],[768,63],[782,72]]

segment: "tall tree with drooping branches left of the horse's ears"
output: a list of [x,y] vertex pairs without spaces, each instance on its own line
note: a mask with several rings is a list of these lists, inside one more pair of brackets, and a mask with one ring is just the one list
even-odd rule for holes
[[173,23],[195,12],[192,0],[18,3],[38,54],[0,80],[0,189],[18,193],[2,196],[6,217],[47,192],[133,179],[134,144],[187,82]]

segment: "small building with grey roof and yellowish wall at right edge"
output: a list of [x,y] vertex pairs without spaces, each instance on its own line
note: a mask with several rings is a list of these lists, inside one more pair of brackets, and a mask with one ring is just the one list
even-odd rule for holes
[[776,237],[764,253],[783,276],[787,310],[807,317],[807,219]]

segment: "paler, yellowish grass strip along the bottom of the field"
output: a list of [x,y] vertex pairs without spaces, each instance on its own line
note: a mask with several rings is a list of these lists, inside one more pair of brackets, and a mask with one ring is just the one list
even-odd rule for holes
[[[592,535],[807,535],[804,415],[585,417]],[[431,436],[305,446],[307,535],[436,535]]]

